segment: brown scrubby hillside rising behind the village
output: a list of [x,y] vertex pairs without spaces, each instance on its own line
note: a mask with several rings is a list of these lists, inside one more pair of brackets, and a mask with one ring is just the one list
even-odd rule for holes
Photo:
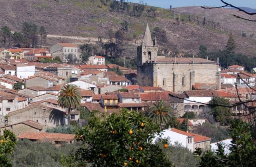
[[[7,3],[8,2],[8,3]],[[107,6],[101,7],[99,0],[2,0],[0,2],[0,27],[7,25],[12,31],[21,31],[22,23],[25,21],[34,22],[38,26],[46,27],[48,34],[60,36],[80,36],[108,38],[110,31],[120,29],[121,22],[127,21],[129,31],[126,34],[127,40],[142,39],[146,23],[149,23],[151,30],[154,27],[162,27],[167,31],[168,43],[162,47],[166,53],[196,54],[201,44],[206,45],[209,51],[223,49],[233,32],[238,45],[237,51],[256,54],[256,24],[245,22],[234,18],[232,9],[201,9],[200,7],[176,8],[181,11],[181,20],[174,19],[174,9],[156,8],[156,17],[147,17],[146,10],[142,16],[135,17],[130,14],[110,11],[110,2]],[[130,4],[133,5],[133,4]],[[150,7],[146,7],[149,9]],[[191,19],[189,20],[189,15]],[[202,27],[203,17],[206,17],[206,26]],[[208,20],[215,20],[219,24],[213,28]],[[224,32],[220,31],[220,24],[224,22]],[[217,23],[216,23],[217,24]],[[244,31],[247,37],[242,37],[240,32]],[[49,37],[47,45],[61,40],[62,42],[76,42],[78,44],[88,40],[68,39]],[[132,49],[132,55],[130,53]],[[123,56],[135,56],[135,47],[129,47]]]

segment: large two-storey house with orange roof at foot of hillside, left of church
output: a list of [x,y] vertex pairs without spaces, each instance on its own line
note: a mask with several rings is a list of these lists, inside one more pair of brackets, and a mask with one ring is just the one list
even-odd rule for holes
[[50,53],[53,58],[59,56],[61,60],[67,61],[68,55],[71,54],[73,58],[79,59],[78,46],[72,43],[57,43],[50,47]]

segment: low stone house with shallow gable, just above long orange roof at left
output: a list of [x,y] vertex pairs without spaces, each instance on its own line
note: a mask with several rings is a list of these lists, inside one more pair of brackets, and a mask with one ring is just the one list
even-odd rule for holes
[[42,131],[43,128],[44,127],[42,125],[32,120],[26,120],[23,122],[18,122],[15,124],[0,127],[0,129],[7,129],[9,131],[12,131],[16,136],[24,134],[26,132]]

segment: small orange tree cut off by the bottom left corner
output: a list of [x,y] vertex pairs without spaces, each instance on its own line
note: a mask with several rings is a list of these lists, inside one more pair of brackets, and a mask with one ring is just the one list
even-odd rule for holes
[[0,130],[0,167],[11,167],[9,155],[16,145],[16,138],[9,130]]

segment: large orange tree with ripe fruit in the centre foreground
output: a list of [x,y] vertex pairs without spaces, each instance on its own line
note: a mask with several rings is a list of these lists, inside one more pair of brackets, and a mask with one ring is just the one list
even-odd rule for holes
[[[171,167],[162,149],[152,143],[159,125],[136,111],[91,118],[77,131],[80,149],[62,159],[64,166],[85,167]],[[168,145],[165,145],[168,147]]]

